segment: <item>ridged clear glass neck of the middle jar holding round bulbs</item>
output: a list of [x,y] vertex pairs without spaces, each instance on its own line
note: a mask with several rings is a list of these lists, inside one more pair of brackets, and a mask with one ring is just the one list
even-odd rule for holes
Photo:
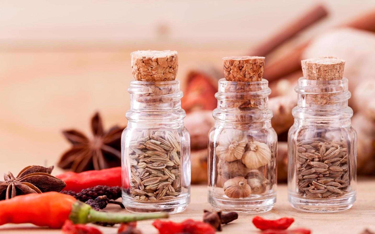
[[219,125],[242,125],[270,127],[272,112],[268,109],[268,95],[271,89],[268,81],[235,82],[219,80],[215,94],[217,108],[213,116]]

